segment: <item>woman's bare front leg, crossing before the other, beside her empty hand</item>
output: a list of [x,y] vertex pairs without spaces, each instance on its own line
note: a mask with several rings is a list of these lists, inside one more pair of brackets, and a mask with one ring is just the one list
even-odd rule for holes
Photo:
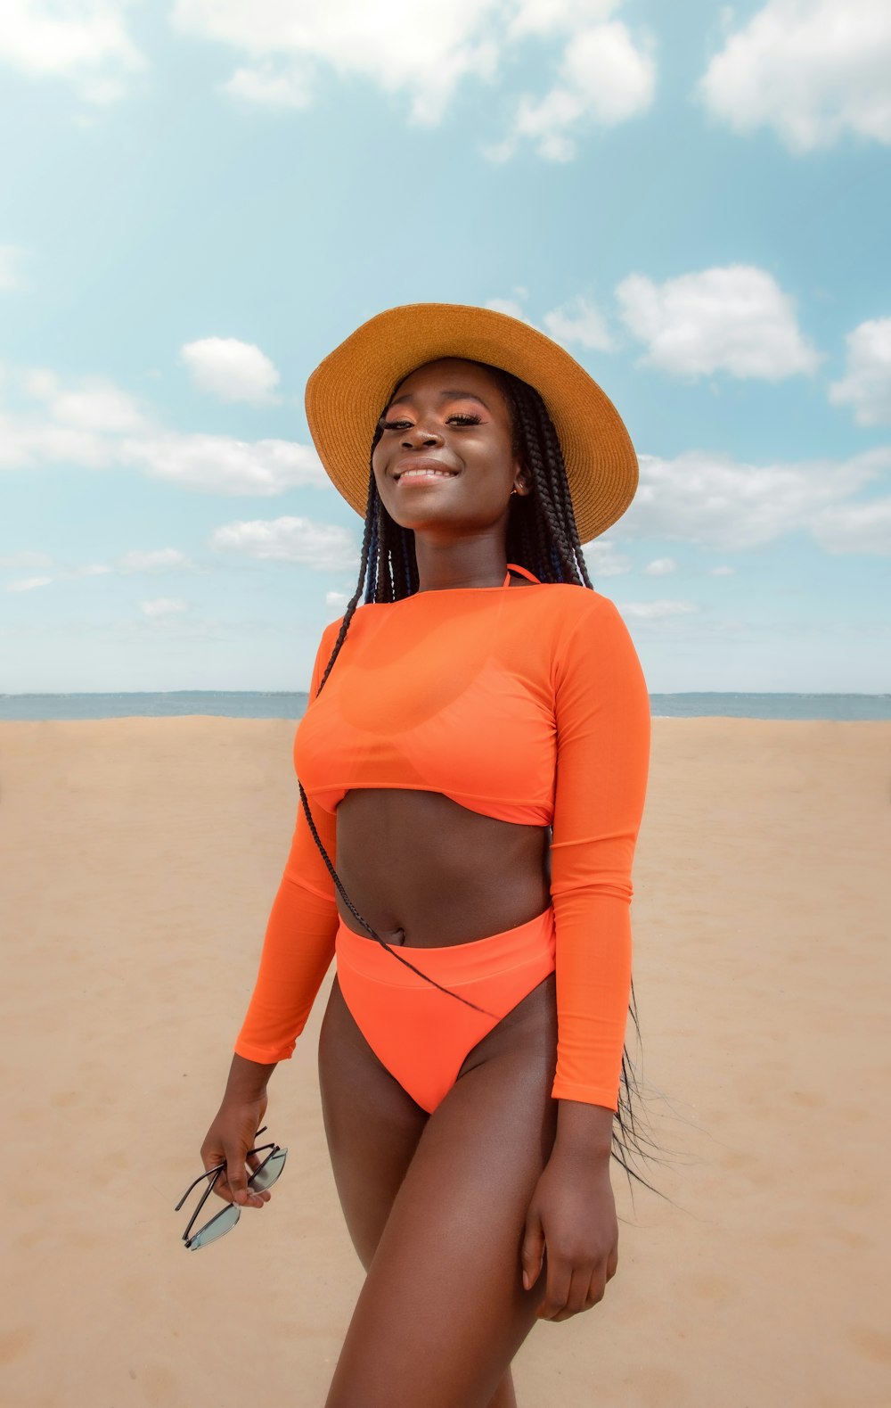
[[[550,1155],[553,976],[474,1049],[398,1184],[327,1408],[486,1408],[535,1322],[519,1249]],[[417,1108],[417,1107],[415,1107]]]

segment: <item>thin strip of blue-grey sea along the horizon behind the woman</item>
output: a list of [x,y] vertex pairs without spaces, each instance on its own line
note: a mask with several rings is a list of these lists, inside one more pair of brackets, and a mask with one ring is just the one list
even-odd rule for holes
[[[158,694],[0,694],[0,719],[293,718],[307,694],[277,690],[165,690]],[[891,719],[891,694],[650,694],[653,718]]]

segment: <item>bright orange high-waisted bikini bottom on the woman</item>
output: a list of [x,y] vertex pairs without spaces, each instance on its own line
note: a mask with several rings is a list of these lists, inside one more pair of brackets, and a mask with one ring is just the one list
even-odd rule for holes
[[553,973],[553,908],[473,943],[396,949],[481,1012],[431,987],[343,921],[335,952],[338,983],[356,1026],[403,1090],[432,1114],[477,1042]]

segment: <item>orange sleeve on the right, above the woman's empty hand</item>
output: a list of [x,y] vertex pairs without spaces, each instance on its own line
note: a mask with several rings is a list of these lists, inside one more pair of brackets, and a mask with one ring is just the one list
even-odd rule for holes
[[618,1108],[631,995],[632,863],[649,770],[650,707],[611,601],[591,593],[556,680],[553,1094]]

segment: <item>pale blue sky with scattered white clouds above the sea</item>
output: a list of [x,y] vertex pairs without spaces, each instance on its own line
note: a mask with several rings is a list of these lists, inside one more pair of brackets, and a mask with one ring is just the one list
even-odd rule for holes
[[891,689],[885,0],[14,0],[0,130],[0,689],[304,689],[305,379],[424,300],[619,407],[653,691]]

